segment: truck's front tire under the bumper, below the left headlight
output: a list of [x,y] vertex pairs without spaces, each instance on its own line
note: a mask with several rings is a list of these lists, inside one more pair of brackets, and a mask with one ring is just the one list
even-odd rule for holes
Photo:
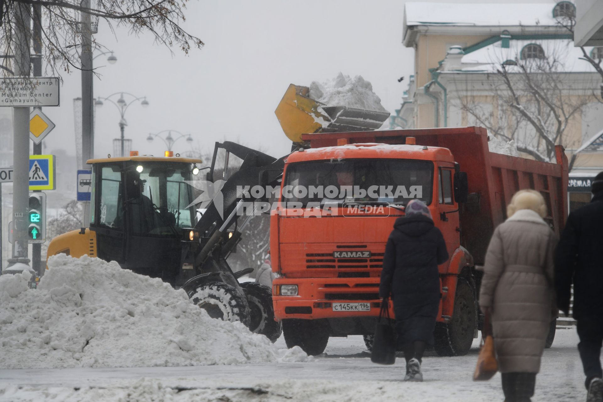
[[311,356],[324,352],[329,342],[329,327],[316,319],[283,319],[283,334],[288,348],[300,347]]

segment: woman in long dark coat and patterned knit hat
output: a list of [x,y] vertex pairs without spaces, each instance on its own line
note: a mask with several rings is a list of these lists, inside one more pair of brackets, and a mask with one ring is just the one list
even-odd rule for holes
[[448,252],[423,201],[413,199],[405,213],[396,219],[385,246],[379,296],[391,295],[394,302],[398,344],[406,360],[404,380],[423,381],[421,359],[426,345],[434,344],[440,307],[438,265],[448,260]]

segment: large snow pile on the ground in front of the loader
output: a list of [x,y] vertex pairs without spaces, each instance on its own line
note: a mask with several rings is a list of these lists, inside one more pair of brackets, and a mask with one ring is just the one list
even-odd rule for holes
[[116,262],[65,254],[38,289],[0,277],[0,368],[147,367],[307,360],[240,322],[212,319],[185,291]]

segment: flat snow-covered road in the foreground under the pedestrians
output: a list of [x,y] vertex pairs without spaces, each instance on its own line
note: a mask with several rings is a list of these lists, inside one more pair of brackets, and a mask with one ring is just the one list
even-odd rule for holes
[[[545,351],[534,402],[585,397],[575,330]],[[281,338],[279,347],[285,347]],[[403,358],[374,365],[361,336],[331,338],[307,363],[0,370],[0,401],[502,401],[500,375],[474,383],[478,343],[467,356],[423,360],[423,383],[404,383]]]

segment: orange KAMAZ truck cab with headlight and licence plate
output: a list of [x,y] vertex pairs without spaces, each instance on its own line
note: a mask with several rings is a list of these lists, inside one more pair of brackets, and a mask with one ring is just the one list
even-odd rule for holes
[[[381,306],[385,243],[411,199],[428,205],[449,255],[459,248],[459,208],[453,196],[458,168],[455,171],[453,155],[449,149],[414,145],[412,140],[403,145],[353,143],[306,149],[286,160],[282,210],[273,216],[278,234],[271,239],[272,253],[278,250],[280,275],[274,281],[274,310],[283,320],[285,337],[311,343],[315,348],[305,347],[312,353],[321,353],[327,333],[361,334],[367,339],[373,333]],[[288,196],[287,186],[322,188],[323,194]],[[316,219],[300,219],[291,207],[301,207],[306,218]],[[441,274],[447,266],[440,267]],[[475,301],[469,303],[475,316]],[[440,314],[438,321],[445,319]],[[469,346],[475,320],[470,324],[464,339]],[[322,336],[309,337],[321,338],[318,341],[298,340],[300,333]]]

